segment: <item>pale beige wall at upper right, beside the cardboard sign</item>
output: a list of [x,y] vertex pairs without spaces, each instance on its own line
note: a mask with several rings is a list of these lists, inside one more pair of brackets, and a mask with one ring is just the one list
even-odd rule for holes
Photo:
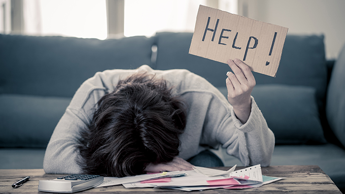
[[345,0],[239,0],[239,14],[289,28],[288,34],[324,34],[327,59],[345,44]]

